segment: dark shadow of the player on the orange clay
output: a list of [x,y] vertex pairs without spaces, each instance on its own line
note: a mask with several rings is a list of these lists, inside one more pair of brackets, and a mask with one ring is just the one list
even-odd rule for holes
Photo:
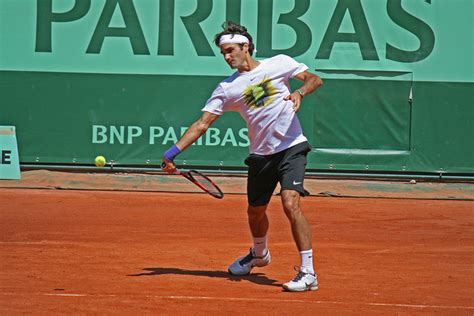
[[159,276],[164,274],[193,275],[208,278],[227,279],[233,282],[241,282],[242,280],[245,280],[261,285],[281,286],[281,284],[277,283],[276,280],[268,278],[263,273],[252,273],[250,275],[234,276],[230,275],[227,271],[186,270],[180,268],[145,268],[143,270],[148,272],[129,274],[128,276]]

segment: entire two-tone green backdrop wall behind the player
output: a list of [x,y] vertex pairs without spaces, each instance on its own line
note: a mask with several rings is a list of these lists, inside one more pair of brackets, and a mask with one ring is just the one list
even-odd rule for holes
[[[299,112],[310,169],[473,174],[473,12],[471,0],[2,0],[0,125],[16,126],[22,163],[157,165],[231,74],[212,39],[232,19],[257,59],[285,53],[323,78]],[[226,113],[177,162],[242,167],[247,147]]]

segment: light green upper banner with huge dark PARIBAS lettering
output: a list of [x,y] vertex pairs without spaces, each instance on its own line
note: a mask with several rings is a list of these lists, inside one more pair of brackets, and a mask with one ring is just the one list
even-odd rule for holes
[[473,12],[472,0],[2,0],[0,69],[226,76],[212,40],[232,19],[257,58],[473,82]]

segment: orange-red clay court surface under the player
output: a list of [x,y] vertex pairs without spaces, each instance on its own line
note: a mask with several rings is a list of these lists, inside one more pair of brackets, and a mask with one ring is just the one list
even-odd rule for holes
[[271,265],[246,197],[0,189],[0,314],[473,315],[474,202],[310,196],[320,289],[283,292],[299,256],[275,196]]

